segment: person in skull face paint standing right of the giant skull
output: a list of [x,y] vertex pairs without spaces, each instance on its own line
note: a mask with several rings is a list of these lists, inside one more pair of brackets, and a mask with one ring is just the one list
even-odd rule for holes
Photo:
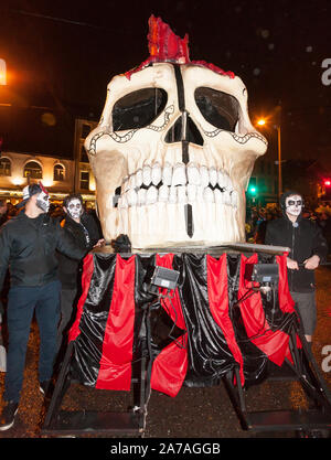
[[327,259],[328,245],[320,227],[302,217],[303,199],[295,191],[280,197],[282,217],[267,225],[265,244],[290,248],[287,257],[288,284],[311,344],[317,322],[314,269]]

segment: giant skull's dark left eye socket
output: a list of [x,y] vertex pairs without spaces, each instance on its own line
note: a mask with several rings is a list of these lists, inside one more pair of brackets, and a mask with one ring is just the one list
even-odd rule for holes
[[162,113],[168,95],[161,88],[143,88],[121,97],[113,107],[113,130],[139,129]]

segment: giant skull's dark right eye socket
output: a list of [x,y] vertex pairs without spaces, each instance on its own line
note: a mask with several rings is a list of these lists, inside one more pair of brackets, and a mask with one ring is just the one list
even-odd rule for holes
[[239,103],[234,96],[216,89],[200,87],[195,89],[194,98],[207,122],[218,129],[235,131]]

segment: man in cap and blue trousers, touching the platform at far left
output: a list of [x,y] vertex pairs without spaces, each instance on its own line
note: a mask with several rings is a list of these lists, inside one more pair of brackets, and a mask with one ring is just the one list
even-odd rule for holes
[[30,325],[35,312],[40,331],[40,391],[46,394],[53,375],[56,353],[56,329],[60,317],[61,284],[57,277],[56,249],[81,259],[82,247],[67,235],[47,211],[49,193],[42,183],[23,190],[25,206],[0,231],[0,289],[9,267],[10,291],[7,322],[9,347],[4,382],[4,409],[0,416],[0,431],[14,424],[23,383]]

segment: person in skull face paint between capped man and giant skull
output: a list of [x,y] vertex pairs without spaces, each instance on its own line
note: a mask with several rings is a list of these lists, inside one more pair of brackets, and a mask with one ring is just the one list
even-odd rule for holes
[[[63,201],[65,217],[61,222],[64,231],[84,246],[86,253],[104,243],[95,220],[84,211],[81,194],[71,194]],[[58,253],[58,277],[61,290],[61,321],[57,328],[57,361],[63,357],[66,346],[66,332],[72,325],[74,306],[79,296],[82,260],[76,260]]]

